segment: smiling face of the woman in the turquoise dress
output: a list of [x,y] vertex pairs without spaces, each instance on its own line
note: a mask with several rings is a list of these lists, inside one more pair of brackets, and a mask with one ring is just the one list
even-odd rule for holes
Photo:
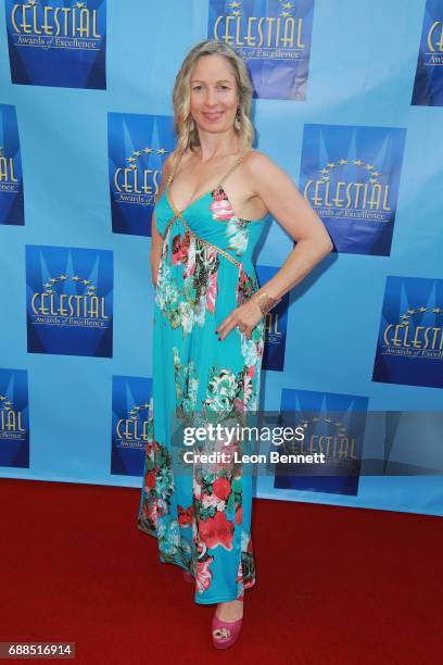
[[223,55],[202,55],[191,75],[191,115],[200,130],[227,131],[238,108],[237,80]]

